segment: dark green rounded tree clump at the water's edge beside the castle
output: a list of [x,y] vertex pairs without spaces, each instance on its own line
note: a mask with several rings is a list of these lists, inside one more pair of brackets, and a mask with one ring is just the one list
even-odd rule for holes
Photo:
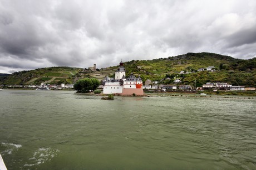
[[95,90],[100,85],[99,80],[97,79],[80,79],[77,80],[74,84],[74,89],[77,90],[77,92],[90,92],[90,90]]

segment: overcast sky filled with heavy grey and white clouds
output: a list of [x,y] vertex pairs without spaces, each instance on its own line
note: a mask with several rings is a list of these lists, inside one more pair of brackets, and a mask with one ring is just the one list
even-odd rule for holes
[[188,52],[256,56],[255,0],[0,0],[0,73]]

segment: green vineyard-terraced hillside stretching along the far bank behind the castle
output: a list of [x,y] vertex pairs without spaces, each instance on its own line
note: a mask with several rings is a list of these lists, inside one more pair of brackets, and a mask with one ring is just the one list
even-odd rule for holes
[[[125,62],[124,66],[126,75],[140,75],[143,81],[150,79],[171,84],[175,78],[180,78],[183,84],[188,85],[194,85],[196,80],[196,86],[216,81],[256,86],[256,58],[242,60],[214,53],[187,53],[154,60],[131,60]],[[208,66],[214,66],[216,71],[197,71]],[[118,66],[111,66],[91,71],[82,68],[52,67],[19,71],[0,80],[0,84],[72,84],[82,78],[102,80],[106,75],[113,77],[117,68]],[[181,75],[180,71],[190,74]]]

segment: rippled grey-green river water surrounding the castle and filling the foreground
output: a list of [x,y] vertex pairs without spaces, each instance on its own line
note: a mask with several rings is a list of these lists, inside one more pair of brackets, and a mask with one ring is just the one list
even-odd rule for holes
[[115,98],[0,91],[7,168],[256,169],[256,97]]

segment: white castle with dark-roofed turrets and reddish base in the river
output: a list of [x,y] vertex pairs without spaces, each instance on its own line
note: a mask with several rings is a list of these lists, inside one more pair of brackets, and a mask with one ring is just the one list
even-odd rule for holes
[[104,94],[144,95],[140,76],[135,78],[135,76],[131,73],[126,79],[125,68],[122,61],[119,68],[115,72],[115,79],[106,76],[106,79],[102,80],[102,84],[104,85]]

